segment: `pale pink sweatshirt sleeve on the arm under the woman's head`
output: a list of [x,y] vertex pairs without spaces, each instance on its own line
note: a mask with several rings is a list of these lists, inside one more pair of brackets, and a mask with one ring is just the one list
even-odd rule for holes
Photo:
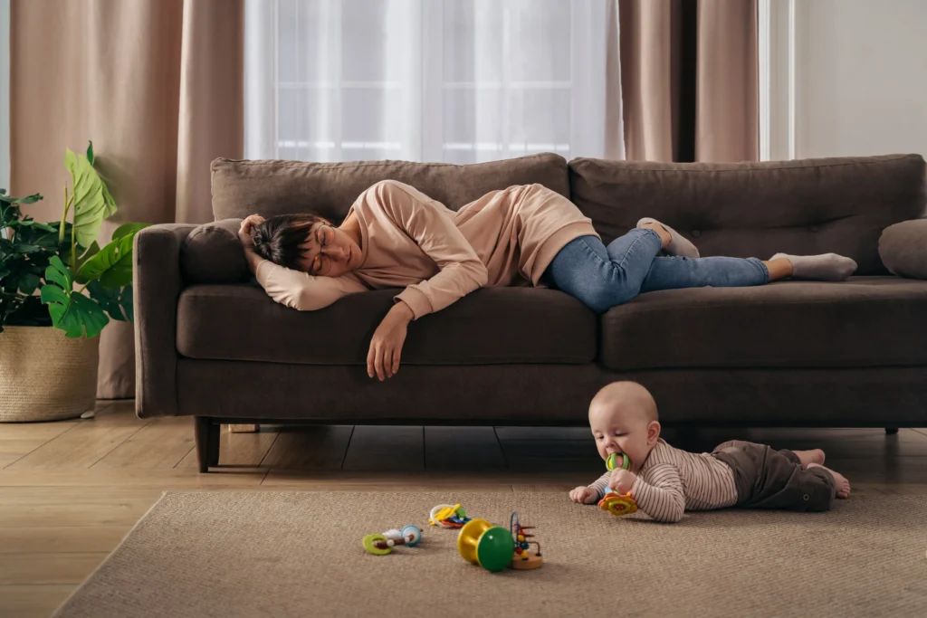
[[341,296],[363,292],[367,288],[349,277],[313,277],[262,259],[254,273],[268,296],[282,305],[299,311],[324,309]]

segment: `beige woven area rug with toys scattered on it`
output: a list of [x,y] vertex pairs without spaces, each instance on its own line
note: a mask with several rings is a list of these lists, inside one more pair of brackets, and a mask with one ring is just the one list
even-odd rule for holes
[[[544,566],[490,574],[436,504],[537,525]],[[133,616],[927,616],[927,496],[834,511],[614,517],[553,493],[168,493],[58,610]],[[637,519],[634,519],[637,518]],[[362,536],[415,523],[417,548]]]

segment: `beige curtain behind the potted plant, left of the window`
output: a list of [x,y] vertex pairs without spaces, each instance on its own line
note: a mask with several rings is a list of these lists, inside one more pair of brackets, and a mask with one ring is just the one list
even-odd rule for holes
[[[65,148],[94,141],[124,221],[212,221],[210,160],[243,153],[243,0],[12,0],[10,173],[61,215]],[[133,397],[131,324],[100,340],[97,397]]]

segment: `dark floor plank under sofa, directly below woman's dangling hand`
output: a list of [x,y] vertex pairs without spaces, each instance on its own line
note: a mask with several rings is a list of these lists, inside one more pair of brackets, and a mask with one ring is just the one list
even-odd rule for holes
[[348,471],[425,469],[425,431],[412,426],[354,428],[341,468]]

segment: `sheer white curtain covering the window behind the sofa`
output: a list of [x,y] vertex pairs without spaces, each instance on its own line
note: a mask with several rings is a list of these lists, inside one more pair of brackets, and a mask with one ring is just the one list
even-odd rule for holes
[[247,0],[245,156],[624,158],[617,0]]

